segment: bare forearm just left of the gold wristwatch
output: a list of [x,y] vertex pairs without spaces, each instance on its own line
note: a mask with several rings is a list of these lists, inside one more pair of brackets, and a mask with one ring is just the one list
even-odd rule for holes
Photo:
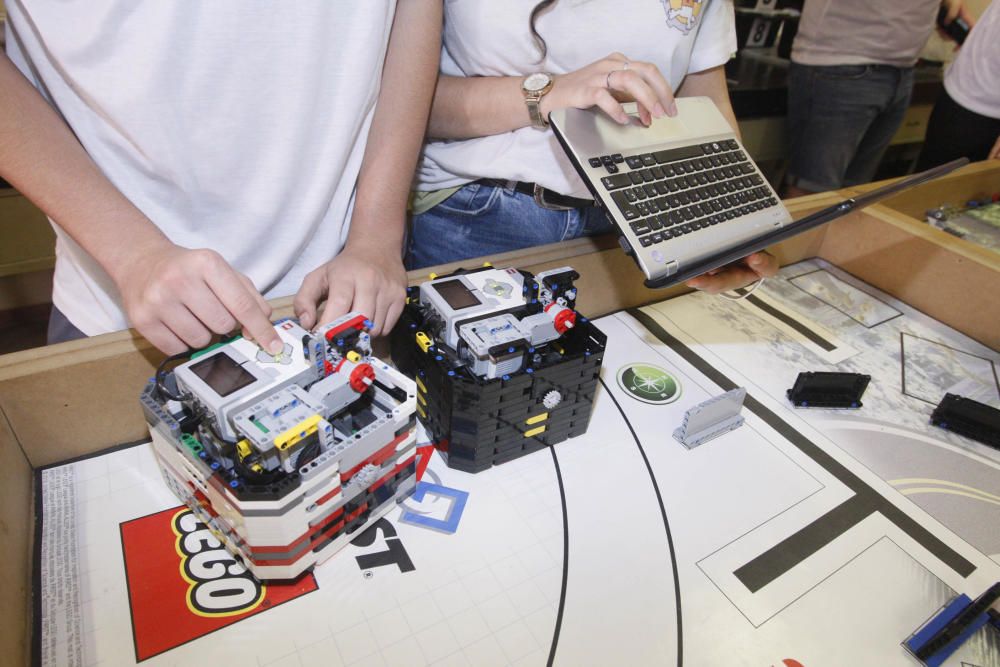
[[531,117],[521,93],[522,81],[523,77],[514,76],[441,75],[428,136],[471,139],[527,127]]

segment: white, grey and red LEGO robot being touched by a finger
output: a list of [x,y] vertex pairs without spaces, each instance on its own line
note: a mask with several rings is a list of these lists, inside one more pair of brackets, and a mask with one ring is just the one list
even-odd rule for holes
[[142,393],[167,485],[260,579],[293,578],[416,484],[412,380],[372,355],[355,313],[237,338],[159,370]]

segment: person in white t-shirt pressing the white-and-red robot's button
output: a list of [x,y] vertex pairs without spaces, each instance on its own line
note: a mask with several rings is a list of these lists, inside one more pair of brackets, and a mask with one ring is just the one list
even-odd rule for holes
[[440,0],[6,6],[0,176],[57,232],[54,339],[280,349],[296,292],[306,327],[392,325]]

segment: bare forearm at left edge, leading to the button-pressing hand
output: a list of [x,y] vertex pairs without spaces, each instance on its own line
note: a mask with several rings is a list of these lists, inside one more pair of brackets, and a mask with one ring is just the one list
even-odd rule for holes
[[0,176],[66,230],[112,278],[135,250],[169,244],[2,54],[0,90]]

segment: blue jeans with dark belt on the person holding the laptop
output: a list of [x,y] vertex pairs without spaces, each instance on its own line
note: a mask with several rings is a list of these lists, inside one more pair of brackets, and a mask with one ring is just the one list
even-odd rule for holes
[[613,229],[596,206],[553,211],[530,195],[469,183],[413,216],[406,267],[420,269],[472,257],[602,234]]

